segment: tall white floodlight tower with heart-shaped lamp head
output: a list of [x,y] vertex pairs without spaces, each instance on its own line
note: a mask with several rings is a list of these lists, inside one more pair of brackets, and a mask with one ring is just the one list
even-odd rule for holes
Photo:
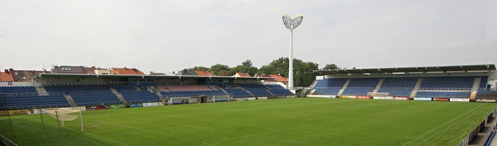
[[297,16],[290,18],[287,14],[283,14],[283,24],[290,31],[290,57],[288,66],[288,89],[293,88],[293,30],[299,27],[302,23],[304,16],[298,14]]

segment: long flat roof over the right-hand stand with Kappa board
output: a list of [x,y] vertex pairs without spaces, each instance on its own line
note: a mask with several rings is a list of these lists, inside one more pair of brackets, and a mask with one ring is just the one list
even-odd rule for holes
[[388,74],[388,73],[428,73],[428,72],[468,72],[493,71],[495,64],[455,65],[455,66],[425,66],[425,67],[395,67],[395,68],[367,68],[367,69],[334,69],[315,70],[326,75],[332,74]]

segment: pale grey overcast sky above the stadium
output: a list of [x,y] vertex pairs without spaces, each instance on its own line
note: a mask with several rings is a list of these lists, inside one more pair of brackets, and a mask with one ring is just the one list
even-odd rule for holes
[[[497,63],[496,0],[1,0],[0,68],[172,72],[288,57],[347,68]],[[44,66],[43,66],[44,64]]]

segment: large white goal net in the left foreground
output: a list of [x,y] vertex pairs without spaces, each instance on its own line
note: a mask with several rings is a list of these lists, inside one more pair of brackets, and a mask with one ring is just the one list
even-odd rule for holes
[[64,127],[64,121],[73,121],[80,118],[81,132],[83,131],[83,114],[81,110],[68,109],[68,108],[55,108],[50,110],[45,110],[45,112],[52,118],[62,121],[62,127]]

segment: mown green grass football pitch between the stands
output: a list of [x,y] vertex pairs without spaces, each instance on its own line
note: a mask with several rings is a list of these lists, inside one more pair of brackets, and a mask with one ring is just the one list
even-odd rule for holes
[[[454,146],[495,103],[287,98],[11,116],[19,146]],[[6,117],[0,117],[6,131]],[[8,130],[7,130],[8,131]]]

